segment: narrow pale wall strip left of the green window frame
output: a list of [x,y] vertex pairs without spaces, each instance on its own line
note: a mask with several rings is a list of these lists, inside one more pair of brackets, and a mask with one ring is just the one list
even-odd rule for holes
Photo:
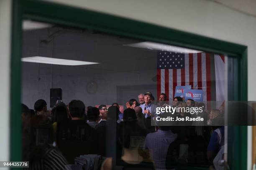
[[11,1],[0,0],[0,160],[9,160]]

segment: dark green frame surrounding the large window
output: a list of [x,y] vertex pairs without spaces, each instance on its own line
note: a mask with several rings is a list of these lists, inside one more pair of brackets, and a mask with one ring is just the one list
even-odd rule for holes
[[[188,32],[40,0],[13,0],[10,73],[10,160],[21,160],[20,121],[22,20],[67,25],[113,35],[222,53],[238,59],[235,100],[247,101],[247,47]],[[228,163],[233,170],[247,168],[247,126],[228,127]],[[182,167],[180,167],[183,169]],[[184,168],[184,169],[188,169]],[[190,167],[189,169],[204,169]]]

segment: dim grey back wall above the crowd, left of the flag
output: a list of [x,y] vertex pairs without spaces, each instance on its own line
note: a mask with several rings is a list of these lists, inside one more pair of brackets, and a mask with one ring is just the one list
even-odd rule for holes
[[[49,40],[49,35],[54,39],[42,42]],[[137,41],[62,27],[24,31],[23,57],[44,56],[99,64],[53,65],[51,83],[51,65],[22,62],[22,102],[33,109],[36,100],[44,99],[49,108],[51,85],[62,89],[66,104],[77,99],[86,106],[114,102],[125,105],[146,91],[156,97],[156,80],[152,78],[156,76],[157,52],[123,45]],[[90,82],[97,83],[94,94],[87,90]]]

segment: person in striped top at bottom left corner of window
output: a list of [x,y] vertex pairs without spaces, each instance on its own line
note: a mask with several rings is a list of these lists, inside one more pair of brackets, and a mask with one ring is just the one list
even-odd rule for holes
[[[24,161],[31,170],[65,170],[66,158],[54,146],[51,121],[45,115],[35,115],[29,122],[30,133],[23,133]],[[28,127],[28,126],[26,126]],[[26,154],[24,154],[26,153]]]

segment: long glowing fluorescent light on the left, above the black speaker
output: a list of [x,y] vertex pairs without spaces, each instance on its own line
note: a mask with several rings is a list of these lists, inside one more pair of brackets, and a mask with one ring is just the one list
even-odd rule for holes
[[50,57],[24,57],[21,58],[21,61],[24,62],[37,62],[44,64],[56,64],[56,65],[90,65],[90,64],[99,64],[98,62],[88,62],[88,61],[77,61],[77,60],[66,60],[59,58],[50,58]]

